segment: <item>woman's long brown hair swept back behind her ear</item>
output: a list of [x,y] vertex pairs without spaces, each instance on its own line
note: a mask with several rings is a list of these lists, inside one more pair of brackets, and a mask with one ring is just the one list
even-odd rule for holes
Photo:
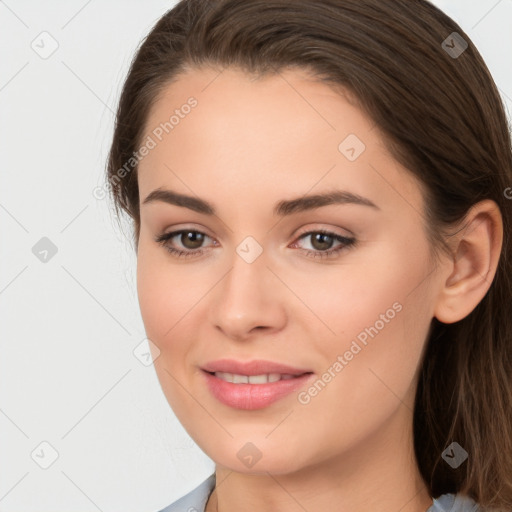
[[[431,496],[460,492],[483,510],[512,510],[511,137],[497,87],[470,38],[426,0],[180,1],[131,63],[107,165],[116,211],[132,219],[136,245],[133,155],[148,111],[181,71],[203,64],[260,75],[300,67],[351,93],[424,187],[436,251],[446,250],[450,227],[472,205],[497,203],[504,239],[490,289],[466,318],[432,320],[414,446]],[[452,442],[469,454],[457,469],[442,459]]]

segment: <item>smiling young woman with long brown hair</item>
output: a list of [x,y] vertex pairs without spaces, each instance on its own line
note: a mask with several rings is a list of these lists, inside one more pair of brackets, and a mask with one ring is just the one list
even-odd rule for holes
[[512,510],[511,141],[453,20],[183,0],[108,182],[162,390],[216,463],[165,512]]

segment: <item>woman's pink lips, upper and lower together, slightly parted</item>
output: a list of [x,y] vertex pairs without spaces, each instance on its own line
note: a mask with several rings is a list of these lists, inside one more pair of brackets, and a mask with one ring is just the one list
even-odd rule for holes
[[[203,368],[206,384],[212,395],[224,405],[235,409],[255,410],[284,398],[306,385],[314,374],[309,370],[300,370],[271,361],[251,361],[241,363],[222,359],[206,364]],[[267,384],[233,384],[226,382],[209,372],[238,373],[241,375],[261,375],[263,373],[281,373],[297,375],[293,379],[268,382]]]

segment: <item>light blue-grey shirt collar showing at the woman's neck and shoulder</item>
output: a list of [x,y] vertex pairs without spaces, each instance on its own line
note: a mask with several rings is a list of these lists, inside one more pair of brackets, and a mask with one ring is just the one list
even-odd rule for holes
[[[215,488],[215,473],[185,496],[159,512],[204,512],[206,502]],[[478,504],[464,494],[443,494],[432,500],[426,512],[478,512]]]

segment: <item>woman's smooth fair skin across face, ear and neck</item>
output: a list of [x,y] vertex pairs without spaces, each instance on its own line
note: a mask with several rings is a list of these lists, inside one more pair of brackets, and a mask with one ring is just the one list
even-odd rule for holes
[[[424,512],[432,498],[412,437],[420,357],[432,318],[464,318],[489,289],[503,236],[497,205],[475,205],[454,228],[453,256],[435,263],[419,182],[348,97],[298,68],[263,79],[190,69],[154,103],[144,139],[191,96],[197,106],[139,165],[137,286],[162,390],[216,463],[207,512]],[[338,148],[349,134],[366,146],[354,161]],[[216,214],[144,204],[157,188],[206,200]],[[378,208],[273,214],[282,200],[334,189]],[[205,236],[167,244],[203,253],[178,258],[155,241],[179,229]],[[303,236],[318,229],[356,244],[321,258],[342,244]],[[252,263],[236,252],[248,236],[263,250]],[[267,359],[320,378],[397,302],[400,312],[307,404],[292,393],[238,410],[205,385],[200,367],[219,358]],[[252,467],[237,457],[248,442],[261,453]]]

